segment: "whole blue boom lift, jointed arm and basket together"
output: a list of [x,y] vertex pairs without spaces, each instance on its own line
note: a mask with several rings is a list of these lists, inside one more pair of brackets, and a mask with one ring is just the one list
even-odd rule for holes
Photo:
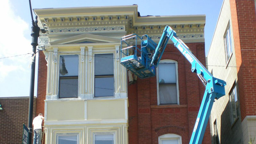
[[[176,32],[170,26],[164,28],[158,44],[150,39],[148,35],[140,37],[136,34],[131,34],[122,37],[120,62],[124,67],[140,78],[156,76],[156,68],[169,39],[172,40],[174,46],[178,48],[191,63],[191,71],[196,73],[205,85],[204,97],[189,142],[189,144],[201,144],[214,99],[219,99],[225,95],[224,86],[226,82],[213,77],[204,65],[197,60],[194,54],[192,54],[188,46],[176,36]],[[129,44],[131,41],[135,41],[135,45]],[[140,41],[140,44],[138,44],[137,41]],[[125,45],[124,48],[123,45]]]

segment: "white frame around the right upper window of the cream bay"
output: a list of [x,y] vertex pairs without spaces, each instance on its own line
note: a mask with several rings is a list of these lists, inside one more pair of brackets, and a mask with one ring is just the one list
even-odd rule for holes
[[[113,54],[113,68],[114,68],[114,71],[113,71],[113,79],[114,79],[114,92],[113,92],[113,96],[97,96],[97,97],[95,97],[95,55],[98,55],[98,54]],[[102,52],[100,52],[100,53],[94,53],[93,54],[93,74],[92,74],[92,76],[93,76],[93,87],[92,87],[92,89],[93,89],[93,98],[95,98],[95,99],[104,99],[104,98],[115,98],[115,92],[116,92],[116,87],[115,87],[115,85],[116,85],[116,80],[115,80],[115,73],[116,73],[116,69],[115,69],[115,61],[114,61],[114,58],[115,58],[115,53],[113,53],[113,52],[105,52],[105,53],[102,53]]]

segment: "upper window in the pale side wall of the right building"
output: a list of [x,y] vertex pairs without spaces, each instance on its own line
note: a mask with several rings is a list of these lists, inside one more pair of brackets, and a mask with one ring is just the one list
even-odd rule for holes
[[224,35],[224,43],[225,43],[226,64],[228,64],[228,61],[232,54],[232,36],[231,36],[230,25],[228,25],[227,31]]

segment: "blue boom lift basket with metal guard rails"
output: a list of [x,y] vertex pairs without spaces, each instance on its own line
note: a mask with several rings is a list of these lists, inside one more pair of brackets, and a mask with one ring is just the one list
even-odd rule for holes
[[[132,45],[134,42],[135,45]],[[140,78],[156,76],[156,67],[150,66],[155,49],[156,43],[148,35],[123,36],[121,38],[121,64]]]

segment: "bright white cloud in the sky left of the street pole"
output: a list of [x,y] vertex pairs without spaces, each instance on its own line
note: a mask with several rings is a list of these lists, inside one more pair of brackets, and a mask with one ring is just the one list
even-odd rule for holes
[[[30,53],[32,51],[31,40],[24,36],[25,32],[30,31],[29,24],[15,14],[12,9],[14,8],[9,0],[1,1],[0,58]],[[4,77],[8,76],[12,71],[21,70],[29,72],[29,63],[28,55],[0,59],[0,82],[3,82]]]

